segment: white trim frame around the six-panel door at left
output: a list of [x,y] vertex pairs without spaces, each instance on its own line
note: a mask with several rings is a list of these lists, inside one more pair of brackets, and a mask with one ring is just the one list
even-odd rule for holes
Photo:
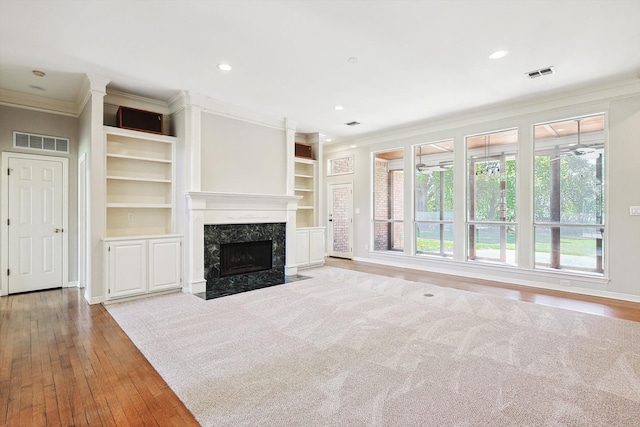
[[[62,163],[62,228],[69,230],[69,159],[59,156],[45,156],[38,154],[23,154],[5,151],[2,153],[2,169],[0,172],[0,188],[2,198],[0,203],[0,296],[8,295],[8,279],[6,271],[9,268],[9,180],[6,171],[9,168],[9,159],[31,159],[41,161],[60,161]],[[69,233],[62,233],[62,284],[69,282]]]

